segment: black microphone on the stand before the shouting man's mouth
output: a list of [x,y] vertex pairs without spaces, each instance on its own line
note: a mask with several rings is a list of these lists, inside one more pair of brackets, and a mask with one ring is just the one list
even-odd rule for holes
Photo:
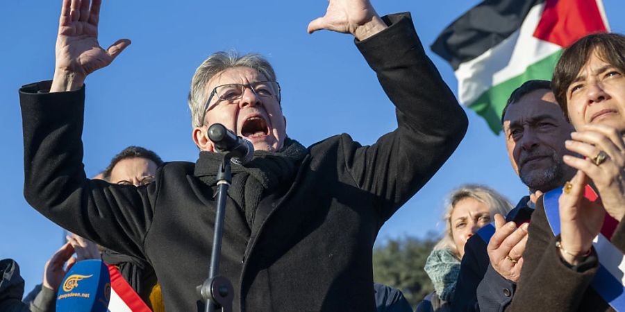
[[219,153],[228,153],[235,164],[246,164],[254,157],[254,146],[247,139],[238,137],[221,123],[208,128],[208,139],[213,141]]

